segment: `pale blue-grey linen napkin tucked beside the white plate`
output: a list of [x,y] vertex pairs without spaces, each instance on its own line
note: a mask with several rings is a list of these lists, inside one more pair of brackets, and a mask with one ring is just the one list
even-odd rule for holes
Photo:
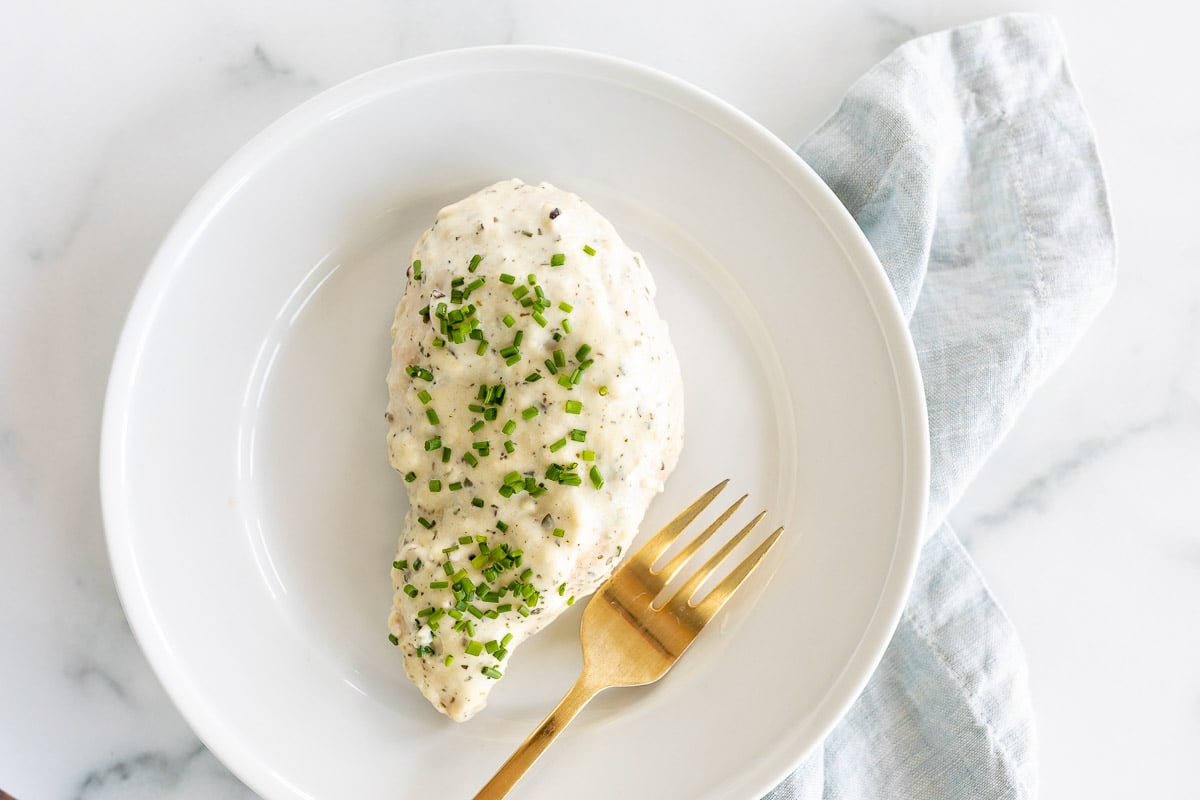
[[878,670],[768,798],[1032,798],[1025,657],[944,518],[1112,289],[1104,179],[1057,25],[1014,14],[913,40],[798,152],[858,221],[908,317],[932,483],[916,583]]

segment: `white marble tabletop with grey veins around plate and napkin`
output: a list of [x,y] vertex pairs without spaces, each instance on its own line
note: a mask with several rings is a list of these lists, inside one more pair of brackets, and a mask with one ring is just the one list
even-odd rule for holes
[[[0,789],[251,796],[125,621],[97,492],[138,279],[240,144],[355,73],[482,43],[611,53],[790,144],[894,46],[1010,8],[862,0],[16,0],[0,26]],[[1198,796],[1200,106],[1195,10],[1058,16],[1105,158],[1121,282],[953,515],[1028,650],[1046,798]]]

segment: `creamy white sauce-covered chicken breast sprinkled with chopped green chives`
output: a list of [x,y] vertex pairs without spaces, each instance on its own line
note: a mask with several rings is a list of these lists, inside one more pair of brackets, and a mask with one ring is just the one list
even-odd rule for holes
[[[517,645],[617,565],[678,461],[683,384],[649,271],[574,194],[517,180],[490,186],[443,209],[412,260],[388,373],[389,456],[410,479],[389,628],[408,676],[462,721],[484,708]],[[474,285],[462,302],[456,278],[460,290]],[[515,296],[536,300],[539,289],[548,302],[540,312],[545,303]],[[439,303],[446,317],[474,309],[482,355],[480,341],[443,332]],[[505,350],[518,332],[517,351]],[[556,350],[552,374],[545,362]],[[580,368],[576,384],[558,383]],[[503,399],[494,389],[492,402],[480,399],[481,386],[503,386]],[[572,463],[565,482],[553,480],[554,465]],[[469,591],[481,585],[494,594]]]

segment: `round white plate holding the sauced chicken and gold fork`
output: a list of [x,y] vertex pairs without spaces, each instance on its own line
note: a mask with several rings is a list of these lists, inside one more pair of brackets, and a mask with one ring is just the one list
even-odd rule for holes
[[[578,614],[455,724],[386,642],[406,507],[382,417],[418,233],[520,176],[581,194],[659,283],[686,384],[646,530],[731,476],[787,525],[659,685],[601,694],[517,798],[757,798],[862,690],[924,517],[911,342],[853,221],[720,101],[608,58],[397,64],[234,156],[155,258],[113,367],[103,501],[138,640],[205,744],[269,798],[469,796],[574,680]],[[575,609],[577,612],[578,609]]]

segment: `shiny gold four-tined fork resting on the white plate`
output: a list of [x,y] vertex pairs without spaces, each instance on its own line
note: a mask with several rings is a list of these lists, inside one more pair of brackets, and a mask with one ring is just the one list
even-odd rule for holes
[[566,723],[602,690],[612,686],[642,686],[662,678],[696,634],[758,566],[767,551],[784,533],[782,528],[763,540],[702,600],[692,602],[696,590],[754,530],[758,521],[767,515],[766,511],[722,545],[661,608],[654,608],[652,604],[664,587],[686,566],[704,542],[712,539],[746,499],[745,495],[739,498],[662,569],[654,570],[654,563],[728,482],[728,479],[721,481],[684,509],[596,590],[583,610],[580,631],[583,672],[578,680],[550,716],[542,720],[509,760],[504,762],[487,786],[479,790],[475,800],[499,800],[505,796],[533,766],[538,757],[550,747],[550,742],[554,741]]

